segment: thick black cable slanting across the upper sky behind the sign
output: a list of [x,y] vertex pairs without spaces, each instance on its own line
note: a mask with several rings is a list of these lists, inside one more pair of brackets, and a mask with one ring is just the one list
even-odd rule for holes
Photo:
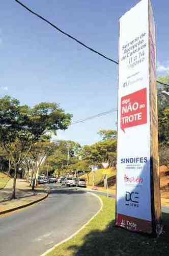
[[[34,12],[33,10],[31,10],[29,7],[25,6],[24,4],[22,4],[20,1],[18,0],[14,0],[15,2],[17,2],[19,5],[21,5],[23,8],[25,8],[27,11],[31,12],[32,14],[34,14],[35,16],[37,16],[38,18],[44,20],[44,22],[48,23],[50,26],[52,26],[53,28],[57,29],[58,31],[60,31],[61,33],[63,33],[64,35],[68,36],[69,38],[75,40],[76,42],[78,42],[78,44],[82,45],[83,47],[87,48],[88,50],[100,55],[101,57],[107,59],[107,60],[110,60],[111,62],[114,62],[115,64],[119,65],[118,61],[114,60],[114,59],[111,59],[111,58],[108,58],[106,57],[104,54],[96,51],[95,49],[85,45],[83,42],[79,41],[77,38],[75,38],[74,36],[71,36],[70,34],[64,32],[62,29],[58,28],[57,26],[55,26],[53,23],[49,22],[49,20],[47,20],[46,18],[42,17],[41,15],[39,15],[38,13]],[[157,81],[158,83],[160,84],[163,84],[164,86],[169,86],[169,84],[167,83],[163,83],[163,82],[159,82]]]

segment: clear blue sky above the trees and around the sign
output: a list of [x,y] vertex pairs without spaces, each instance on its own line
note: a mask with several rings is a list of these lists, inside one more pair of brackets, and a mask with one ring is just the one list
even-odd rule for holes
[[[118,60],[118,19],[137,0],[23,0],[67,33]],[[169,70],[168,1],[152,0],[158,73]],[[57,102],[73,121],[117,107],[118,67],[90,52],[14,0],[1,1],[0,95],[30,106]],[[96,142],[99,129],[116,129],[116,113],[74,124],[58,139]]]

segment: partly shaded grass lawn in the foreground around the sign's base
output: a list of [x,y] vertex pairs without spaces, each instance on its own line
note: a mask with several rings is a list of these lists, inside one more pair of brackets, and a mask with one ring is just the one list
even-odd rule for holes
[[[100,196],[102,211],[74,238],[56,247],[54,256],[159,256],[169,255],[169,228],[158,239],[147,234],[115,227],[115,200]],[[169,215],[163,214],[163,224],[169,226]]]

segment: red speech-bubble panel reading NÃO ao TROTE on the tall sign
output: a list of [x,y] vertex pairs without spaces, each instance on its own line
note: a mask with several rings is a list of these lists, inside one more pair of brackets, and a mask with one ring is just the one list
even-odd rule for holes
[[147,88],[121,98],[121,129],[147,123]]

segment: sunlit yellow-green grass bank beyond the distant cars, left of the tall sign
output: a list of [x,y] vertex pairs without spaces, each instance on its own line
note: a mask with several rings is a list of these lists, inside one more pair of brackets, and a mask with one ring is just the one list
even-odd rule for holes
[[[101,183],[102,183],[102,186],[103,186],[103,176],[104,176],[103,170],[104,169],[95,170],[95,173],[94,173],[94,175],[95,175],[94,184],[95,185],[98,185],[98,184],[101,185]],[[109,170],[110,170],[110,173],[107,175],[107,178],[116,175],[115,170],[112,170],[111,168],[109,168]],[[80,176],[80,178],[84,178],[84,179],[86,179],[86,181],[88,180],[87,174]],[[93,185],[93,172],[89,173],[89,185],[90,186]]]

